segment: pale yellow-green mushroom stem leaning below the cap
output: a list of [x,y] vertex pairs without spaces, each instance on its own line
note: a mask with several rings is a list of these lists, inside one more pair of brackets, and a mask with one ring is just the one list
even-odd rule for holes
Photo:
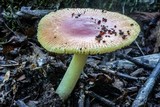
[[74,54],[73,59],[56,90],[56,93],[59,94],[63,101],[68,98],[74,89],[84,68],[87,57],[88,55]]

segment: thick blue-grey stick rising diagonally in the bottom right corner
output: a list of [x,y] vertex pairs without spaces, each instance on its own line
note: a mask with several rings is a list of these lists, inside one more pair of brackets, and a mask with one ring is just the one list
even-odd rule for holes
[[145,82],[144,86],[138,92],[138,95],[135,98],[135,100],[132,104],[132,107],[139,107],[139,106],[142,106],[146,103],[148,95],[152,91],[153,86],[154,86],[156,80],[159,78],[159,76],[160,76],[160,59],[156,65],[156,67],[152,71],[151,75],[149,76],[149,78]]

